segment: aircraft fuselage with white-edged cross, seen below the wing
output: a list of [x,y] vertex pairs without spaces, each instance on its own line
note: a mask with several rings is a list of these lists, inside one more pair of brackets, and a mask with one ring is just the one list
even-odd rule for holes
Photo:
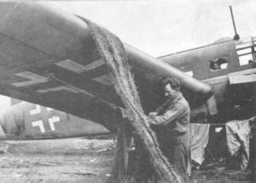
[[62,111],[11,98],[10,108],[2,110],[0,140],[42,140],[66,137],[109,135],[110,131],[93,121]]

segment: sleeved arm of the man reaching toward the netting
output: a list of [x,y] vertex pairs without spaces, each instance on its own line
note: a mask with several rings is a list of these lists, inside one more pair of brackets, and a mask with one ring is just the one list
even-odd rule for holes
[[167,125],[186,111],[186,105],[178,103],[171,109],[167,109],[162,115],[151,117],[150,125]]

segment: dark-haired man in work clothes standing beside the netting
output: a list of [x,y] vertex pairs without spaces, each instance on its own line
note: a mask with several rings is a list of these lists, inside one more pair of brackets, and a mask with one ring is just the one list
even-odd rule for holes
[[190,106],[176,78],[163,80],[166,101],[150,113],[150,126],[157,134],[162,153],[187,181],[190,173]]

